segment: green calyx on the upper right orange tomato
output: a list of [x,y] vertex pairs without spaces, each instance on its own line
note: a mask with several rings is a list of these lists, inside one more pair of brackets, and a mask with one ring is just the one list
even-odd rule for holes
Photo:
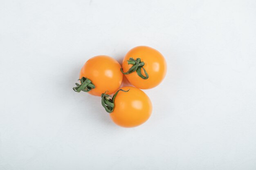
[[[124,73],[123,68],[121,68],[121,72],[123,74],[130,74],[133,72],[137,72],[137,74],[139,75],[139,77],[143,78],[143,79],[148,79],[148,73],[146,72],[145,68],[143,68],[144,66],[144,62],[140,61],[140,58],[137,58],[136,60],[134,60],[132,57],[127,60],[128,64],[132,64],[133,66],[126,72]],[[141,68],[143,69],[144,73],[146,76],[141,74]]]

